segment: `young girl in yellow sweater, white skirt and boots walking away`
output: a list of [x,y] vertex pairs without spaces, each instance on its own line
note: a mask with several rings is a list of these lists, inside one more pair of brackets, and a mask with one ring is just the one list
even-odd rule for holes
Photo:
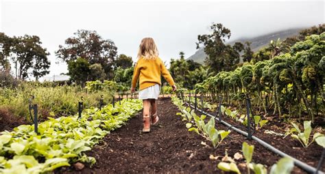
[[[169,74],[163,61],[158,57],[158,49],[152,38],[141,41],[138,52],[138,62],[134,68],[131,92],[134,93],[139,78],[139,99],[143,100],[143,132],[150,132],[150,124],[156,124],[157,102],[159,96],[160,74],[176,90],[171,74]],[[150,113],[151,108],[151,113]],[[149,117],[151,115],[151,117]]]

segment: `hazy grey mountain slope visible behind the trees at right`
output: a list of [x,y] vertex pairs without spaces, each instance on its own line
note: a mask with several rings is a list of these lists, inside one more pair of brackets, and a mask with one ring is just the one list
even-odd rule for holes
[[[273,33],[267,33],[265,35],[259,35],[253,38],[240,38],[238,40],[233,40],[232,42],[228,42],[226,44],[234,44],[235,42],[252,42],[250,44],[250,48],[254,52],[259,50],[260,48],[263,48],[264,46],[267,46],[271,40],[285,40],[286,38],[290,38],[293,35],[298,35],[299,31],[301,31],[303,28],[296,28],[296,29],[287,29],[282,31],[276,31]],[[196,61],[197,63],[204,63],[204,59],[206,58],[206,54],[204,53],[204,47],[199,48],[194,55],[191,55],[187,59],[192,59],[193,61]]]

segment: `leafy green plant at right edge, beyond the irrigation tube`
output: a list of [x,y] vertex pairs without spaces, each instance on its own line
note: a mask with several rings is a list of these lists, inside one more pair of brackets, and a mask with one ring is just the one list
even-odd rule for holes
[[[294,124],[294,123],[291,124],[293,128],[291,128],[289,132],[287,132],[287,135],[291,134],[291,137],[293,139],[298,140],[303,147],[309,147],[309,145],[311,145],[311,143],[313,143],[315,139],[317,139],[320,136],[324,136],[320,132],[315,132],[315,134],[313,134],[313,138],[311,139],[310,137],[312,132],[311,121],[304,121],[304,132],[300,130],[298,124]],[[311,141],[309,142],[310,139]]]

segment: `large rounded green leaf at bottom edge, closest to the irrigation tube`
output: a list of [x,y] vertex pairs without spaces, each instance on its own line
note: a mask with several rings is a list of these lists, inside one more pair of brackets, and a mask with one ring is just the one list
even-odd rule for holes
[[281,158],[271,167],[269,174],[290,174],[293,166],[294,164],[291,158]]

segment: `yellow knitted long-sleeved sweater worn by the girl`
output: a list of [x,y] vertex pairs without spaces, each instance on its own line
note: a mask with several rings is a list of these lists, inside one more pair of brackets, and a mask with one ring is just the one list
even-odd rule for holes
[[140,90],[156,84],[161,85],[160,74],[164,76],[169,85],[175,85],[171,74],[169,74],[163,61],[159,57],[156,59],[143,59],[141,57],[134,68],[132,87],[136,87],[138,78],[140,83]]

